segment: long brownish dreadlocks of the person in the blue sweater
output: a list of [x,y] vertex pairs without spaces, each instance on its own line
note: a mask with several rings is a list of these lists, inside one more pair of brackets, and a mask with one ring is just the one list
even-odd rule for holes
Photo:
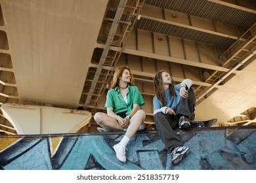
[[[161,70],[156,74],[154,78],[154,90],[155,90],[156,96],[158,97],[158,99],[160,99],[161,104],[165,106],[166,104],[165,91],[163,88],[163,78],[161,76],[163,72],[166,73],[166,71]],[[171,95],[175,97],[174,86],[175,86],[175,81],[173,80],[173,78],[171,78],[171,84],[169,85],[169,97],[171,97]]]

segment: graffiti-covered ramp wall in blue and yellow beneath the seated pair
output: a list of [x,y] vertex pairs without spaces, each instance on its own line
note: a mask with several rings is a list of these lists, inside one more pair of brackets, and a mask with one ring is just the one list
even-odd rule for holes
[[178,131],[190,154],[178,165],[157,131],[138,132],[127,145],[127,162],[112,148],[124,133],[1,135],[0,169],[256,169],[256,125]]

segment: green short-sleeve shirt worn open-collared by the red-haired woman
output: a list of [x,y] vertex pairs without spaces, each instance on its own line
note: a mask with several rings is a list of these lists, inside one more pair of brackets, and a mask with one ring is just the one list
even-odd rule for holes
[[113,107],[114,113],[127,111],[126,114],[129,115],[131,110],[133,110],[133,104],[138,104],[139,106],[145,104],[144,99],[137,86],[131,86],[128,84],[126,97],[127,104],[123,100],[123,97],[117,87],[108,90],[105,108]]

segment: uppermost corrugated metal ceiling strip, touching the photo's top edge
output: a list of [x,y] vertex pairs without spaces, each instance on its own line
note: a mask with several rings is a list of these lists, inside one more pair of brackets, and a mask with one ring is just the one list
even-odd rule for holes
[[167,8],[206,18],[223,24],[249,29],[256,22],[256,14],[203,0],[146,0],[145,4]]

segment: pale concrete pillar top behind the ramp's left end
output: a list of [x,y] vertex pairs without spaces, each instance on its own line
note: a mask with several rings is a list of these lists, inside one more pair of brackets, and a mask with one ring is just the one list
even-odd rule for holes
[[91,119],[91,112],[69,108],[4,103],[1,110],[18,135],[75,133]]

